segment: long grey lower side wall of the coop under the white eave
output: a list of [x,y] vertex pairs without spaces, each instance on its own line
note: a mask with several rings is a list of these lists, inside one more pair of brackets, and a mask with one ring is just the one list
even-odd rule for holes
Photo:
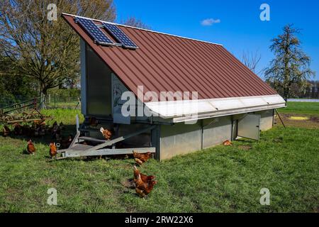
[[[274,110],[258,111],[260,130],[267,131],[273,127]],[[237,137],[237,120],[239,115],[208,118],[194,125],[176,123],[160,126],[159,160],[176,155],[185,155],[197,150],[220,145],[225,140]]]

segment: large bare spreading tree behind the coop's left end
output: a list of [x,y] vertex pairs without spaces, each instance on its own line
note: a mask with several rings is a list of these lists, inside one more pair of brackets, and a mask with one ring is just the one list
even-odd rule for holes
[[[57,21],[47,19],[49,4],[57,6]],[[62,12],[113,21],[112,0],[0,1],[0,49],[11,60],[11,74],[35,79],[41,96],[79,74],[79,38]],[[0,62],[1,63],[1,62]]]

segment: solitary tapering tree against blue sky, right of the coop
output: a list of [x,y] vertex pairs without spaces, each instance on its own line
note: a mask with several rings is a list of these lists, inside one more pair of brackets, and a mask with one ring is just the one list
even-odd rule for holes
[[265,71],[267,82],[281,92],[286,100],[292,94],[293,85],[304,90],[307,80],[315,75],[310,70],[310,57],[301,49],[301,41],[296,36],[298,33],[298,29],[287,25],[283,28],[283,33],[272,40],[270,50],[274,52],[275,58]]

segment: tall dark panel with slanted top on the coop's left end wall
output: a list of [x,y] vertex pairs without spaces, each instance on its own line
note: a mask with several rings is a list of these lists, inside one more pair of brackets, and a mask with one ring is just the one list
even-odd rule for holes
[[111,70],[86,45],[86,109],[88,115],[111,115]]

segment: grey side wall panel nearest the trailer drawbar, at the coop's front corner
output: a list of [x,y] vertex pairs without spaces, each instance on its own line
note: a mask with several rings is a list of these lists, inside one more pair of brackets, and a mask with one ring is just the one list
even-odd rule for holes
[[177,123],[174,126],[161,126],[160,159],[184,155],[201,150],[201,124]]

